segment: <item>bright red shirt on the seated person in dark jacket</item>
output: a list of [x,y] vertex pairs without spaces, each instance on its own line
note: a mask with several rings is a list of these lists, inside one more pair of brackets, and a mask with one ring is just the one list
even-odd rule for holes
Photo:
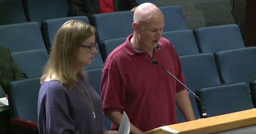
[[115,11],[113,0],[99,0],[99,3],[100,13],[109,13]]

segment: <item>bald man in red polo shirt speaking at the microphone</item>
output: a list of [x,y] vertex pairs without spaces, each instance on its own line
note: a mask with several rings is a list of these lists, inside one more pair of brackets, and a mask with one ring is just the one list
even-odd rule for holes
[[162,12],[152,3],[143,3],[133,19],[134,33],[109,54],[102,70],[101,97],[112,129],[118,129],[123,111],[130,119],[131,134],[175,124],[176,104],[186,120],[195,120],[186,89],[151,62],[156,59],[185,83],[177,52],[162,37]]

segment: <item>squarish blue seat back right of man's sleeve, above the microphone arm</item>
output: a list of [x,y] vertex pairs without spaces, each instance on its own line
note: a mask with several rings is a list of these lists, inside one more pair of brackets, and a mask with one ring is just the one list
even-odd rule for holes
[[220,85],[220,79],[212,53],[180,56],[186,86],[195,93],[196,89]]

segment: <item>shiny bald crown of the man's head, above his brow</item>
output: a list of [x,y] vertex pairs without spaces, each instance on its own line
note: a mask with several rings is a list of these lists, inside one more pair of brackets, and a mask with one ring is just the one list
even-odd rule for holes
[[162,11],[152,3],[143,3],[139,5],[134,11],[133,21],[140,22],[148,22],[152,19],[164,18]]

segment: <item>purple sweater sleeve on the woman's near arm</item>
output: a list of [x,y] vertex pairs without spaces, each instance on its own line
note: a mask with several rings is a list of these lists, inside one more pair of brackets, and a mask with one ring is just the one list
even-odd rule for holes
[[47,134],[79,134],[69,115],[70,101],[62,86],[47,90],[45,117]]

